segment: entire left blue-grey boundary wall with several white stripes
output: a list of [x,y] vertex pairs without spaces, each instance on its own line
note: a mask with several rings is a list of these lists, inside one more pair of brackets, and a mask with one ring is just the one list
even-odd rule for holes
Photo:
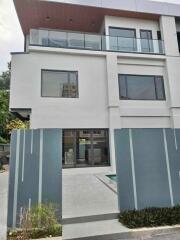
[[[62,131],[18,130],[11,137],[8,227],[18,227],[23,208],[62,199]],[[61,219],[61,207],[60,207]]]

